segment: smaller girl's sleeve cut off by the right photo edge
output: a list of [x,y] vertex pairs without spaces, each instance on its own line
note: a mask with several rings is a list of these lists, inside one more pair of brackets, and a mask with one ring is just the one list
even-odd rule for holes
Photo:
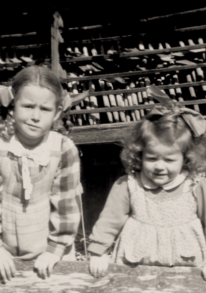
[[204,234],[206,237],[206,177],[201,177],[201,180],[196,188],[198,201],[198,217],[203,225]]

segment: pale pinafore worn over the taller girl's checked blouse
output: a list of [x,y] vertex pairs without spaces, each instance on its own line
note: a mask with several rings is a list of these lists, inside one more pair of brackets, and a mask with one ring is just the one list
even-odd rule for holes
[[35,258],[46,251],[49,236],[50,194],[61,160],[62,135],[53,132],[50,161],[38,175],[30,176],[33,185],[29,200],[25,200],[18,160],[8,152],[8,144],[0,139],[1,241],[13,256]]

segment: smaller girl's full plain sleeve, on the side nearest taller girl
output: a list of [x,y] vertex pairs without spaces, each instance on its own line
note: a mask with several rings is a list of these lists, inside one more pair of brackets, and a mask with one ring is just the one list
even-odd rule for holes
[[103,211],[89,238],[88,251],[102,255],[112,245],[130,214],[127,176],[118,179],[106,200]]

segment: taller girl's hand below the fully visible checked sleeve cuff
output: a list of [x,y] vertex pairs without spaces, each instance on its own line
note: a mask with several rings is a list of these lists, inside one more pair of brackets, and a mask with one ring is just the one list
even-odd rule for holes
[[34,268],[37,270],[38,277],[45,279],[49,277],[57,262],[61,260],[61,257],[50,252],[43,252],[40,254],[35,263]]

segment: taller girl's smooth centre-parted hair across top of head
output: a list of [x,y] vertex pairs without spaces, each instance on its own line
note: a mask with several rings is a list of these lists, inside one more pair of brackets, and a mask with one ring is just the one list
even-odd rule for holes
[[18,99],[19,90],[28,85],[47,88],[54,93],[57,101],[57,108],[62,104],[61,83],[50,69],[42,66],[30,66],[19,71],[14,77],[12,84],[14,100]]

